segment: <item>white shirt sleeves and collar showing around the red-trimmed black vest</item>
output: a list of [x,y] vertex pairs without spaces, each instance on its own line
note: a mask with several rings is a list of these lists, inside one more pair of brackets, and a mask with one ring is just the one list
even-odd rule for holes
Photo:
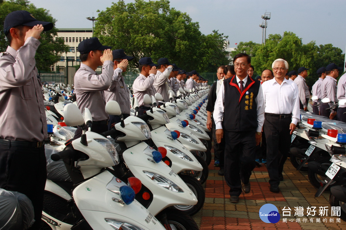
[[[243,86],[245,88],[245,83],[247,82],[247,76],[243,80]],[[237,83],[240,85],[239,81],[240,79],[236,76]],[[223,81],[222,81],[223,82]],[[228,98],[229,99],[229,98]],[[234,100],[234,98],[233,98]],[[214,122],[216,129],[222,129],[222,118],[224,117],[224,102],[225,102],[225,85],[222,84],[220,87],[220,91],[217,94],[217,98],[215,101],[215,107],[214,107]],[[263,99],[263,93],[262,93],[262,87],[260,85],[260,88],[258,89],[257,97],[255,98],[255,102],[257,103],[257,132],[262,132],[262,126],[264,122],[264,99]]]

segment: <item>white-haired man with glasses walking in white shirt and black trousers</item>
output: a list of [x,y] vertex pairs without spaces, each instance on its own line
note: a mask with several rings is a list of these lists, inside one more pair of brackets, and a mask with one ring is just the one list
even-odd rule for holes
[[288,63],[276,59],[273,64],[274,79],[262,84],[265,103],[264,133],[267,142],[267,169],[270,191],[279,192],[282,171],[290,149],[295,126],[300,119],[298,87],[285,79]]

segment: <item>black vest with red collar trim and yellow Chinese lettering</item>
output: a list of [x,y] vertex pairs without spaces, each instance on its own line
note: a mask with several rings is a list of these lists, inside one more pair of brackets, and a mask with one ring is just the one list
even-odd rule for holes
[[247,77],[240,92],[236,76],[224,80],[225,112],[223,127],[228,132],[255,131],[257,128],[257,97],[260,81]]

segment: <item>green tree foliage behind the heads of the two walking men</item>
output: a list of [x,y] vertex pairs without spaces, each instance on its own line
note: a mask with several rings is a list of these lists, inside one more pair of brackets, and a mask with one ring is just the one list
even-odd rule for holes
[[302,39],[293,32],[285,31],[283,36],[279,34],[269,35],[266,44],[256,44],[252,41],[239,42],[233,56],[239,52],[249,54],[251,64],[258,73],[264,69],[271,69],[272,63],[277,58],[285,59],[289,64],[289,70],[298,70],[304,66],[309,68],[309,76],[306,78],[307,85],[312,85],[317,80],[316,71],[320,67],[326,67],[330,63],[344,66],[345,54],[332,44],[316,45],[315,41],[303,44]]

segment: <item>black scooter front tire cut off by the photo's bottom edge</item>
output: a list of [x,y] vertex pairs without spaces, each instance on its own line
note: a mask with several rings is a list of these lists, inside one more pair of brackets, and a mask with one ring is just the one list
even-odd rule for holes
[[172,229],[177,230],[198,230],[197,223],[190,217],[188,214],[175,210],[167,209],[166,210],[168,223]]

